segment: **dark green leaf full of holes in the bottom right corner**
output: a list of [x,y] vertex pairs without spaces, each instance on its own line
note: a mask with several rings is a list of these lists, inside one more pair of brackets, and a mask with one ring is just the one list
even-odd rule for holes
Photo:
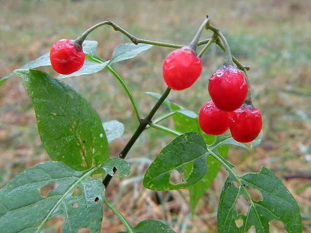
[[[301,215],[297,202],[284,184],[268,168],[262,167],[259,173],[247,173],[241,177],[245,185],[258,189],[262,200],[250,197],[245,186],[238,188],[232,183],[234,178],[229,176],[220,195],[217,214],[219,233],[244,233],[254,225],[256,232],[269,232],[269,221],[278,219],[283,223],[288,233],[300,233]],[[247,215],[237,213],[235,202],[243,194],[249,204]],[[237,227],[235,220],[242,219],[243,224]]]

